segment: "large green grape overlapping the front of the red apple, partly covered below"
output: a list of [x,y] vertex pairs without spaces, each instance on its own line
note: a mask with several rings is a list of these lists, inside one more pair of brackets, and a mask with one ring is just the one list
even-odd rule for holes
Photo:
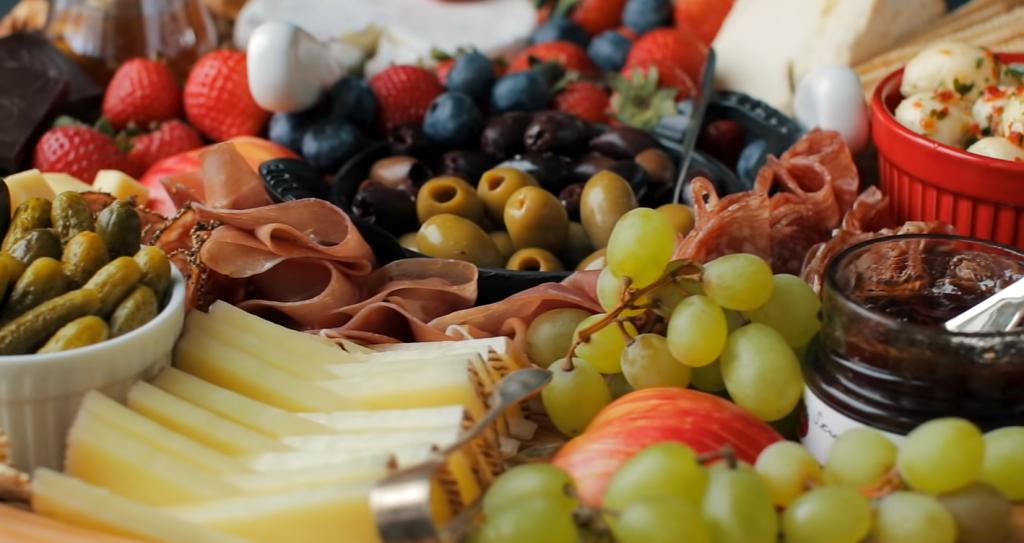
[[674,496],[694,505],[708,487],[697,455],[680,443],[663,443],[637,453],[611,476],[602,507],[623,511],[640,498]]

